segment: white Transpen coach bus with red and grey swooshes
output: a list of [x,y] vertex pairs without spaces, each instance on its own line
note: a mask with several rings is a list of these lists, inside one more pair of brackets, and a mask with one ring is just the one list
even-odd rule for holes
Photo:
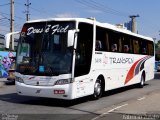
[[24,24],[17,48],[19,95],[76,99],[154,78],[154,42],[85,18]]

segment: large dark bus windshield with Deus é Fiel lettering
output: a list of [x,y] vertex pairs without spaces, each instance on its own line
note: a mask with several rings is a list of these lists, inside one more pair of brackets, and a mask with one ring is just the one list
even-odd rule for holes
[[71,73],[73,46],[67,46],[71,29],[75,29],[75,22],[25,24],[17,49],[16,71],[42,76]]

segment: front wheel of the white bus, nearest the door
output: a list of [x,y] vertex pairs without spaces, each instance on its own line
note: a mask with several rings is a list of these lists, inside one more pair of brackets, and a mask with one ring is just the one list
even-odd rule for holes
[[102,81],[101,79],[97,79],[94,85],[94,93],[93,93],[93,98],[94,99],[99,99],[102,95]]

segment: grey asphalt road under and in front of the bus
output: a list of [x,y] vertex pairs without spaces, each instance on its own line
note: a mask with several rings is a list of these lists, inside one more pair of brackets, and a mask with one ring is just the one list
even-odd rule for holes
[[[159,96],[157,97],[154,95],[154,93],[158,93],[159,95],[159,86],[160,74],[156,73],[155,79],[148,81],[142,89],[137,88],[137,86],[130,86],[108,91],[99,100],[92,100],[90,97],[84,97],[66,101],[19,96],[15,93],[15,85],[4,85],[0,87],[0,118],[15,118],[18,120],[127,119],[127,117],[130,117],[127,115],[137,111],[135,106],[145,106],[144,104],[137,103],[137,100],[143,101],[143,99],[149,98],[148,96],[152,96],[155,99],[160,98]],[[147,99],[144,102],[147,102]],[[144,112],[145,111],[141,113],[141,111],[138,111],[134,114],[144,114]],[[154,109],[151,112],[154,113]],[[157,112],[158,110],[156,110],[155,115],[158,114]],[[131,118],[133,118],[133,116]],[[136,117],[134,116],[134,118]]]

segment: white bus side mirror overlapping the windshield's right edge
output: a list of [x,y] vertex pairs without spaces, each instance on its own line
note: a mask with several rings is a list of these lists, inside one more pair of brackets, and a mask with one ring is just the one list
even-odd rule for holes
[[67,47],[71,47],[74,44],[75,34],[79,30],[68,30]]

